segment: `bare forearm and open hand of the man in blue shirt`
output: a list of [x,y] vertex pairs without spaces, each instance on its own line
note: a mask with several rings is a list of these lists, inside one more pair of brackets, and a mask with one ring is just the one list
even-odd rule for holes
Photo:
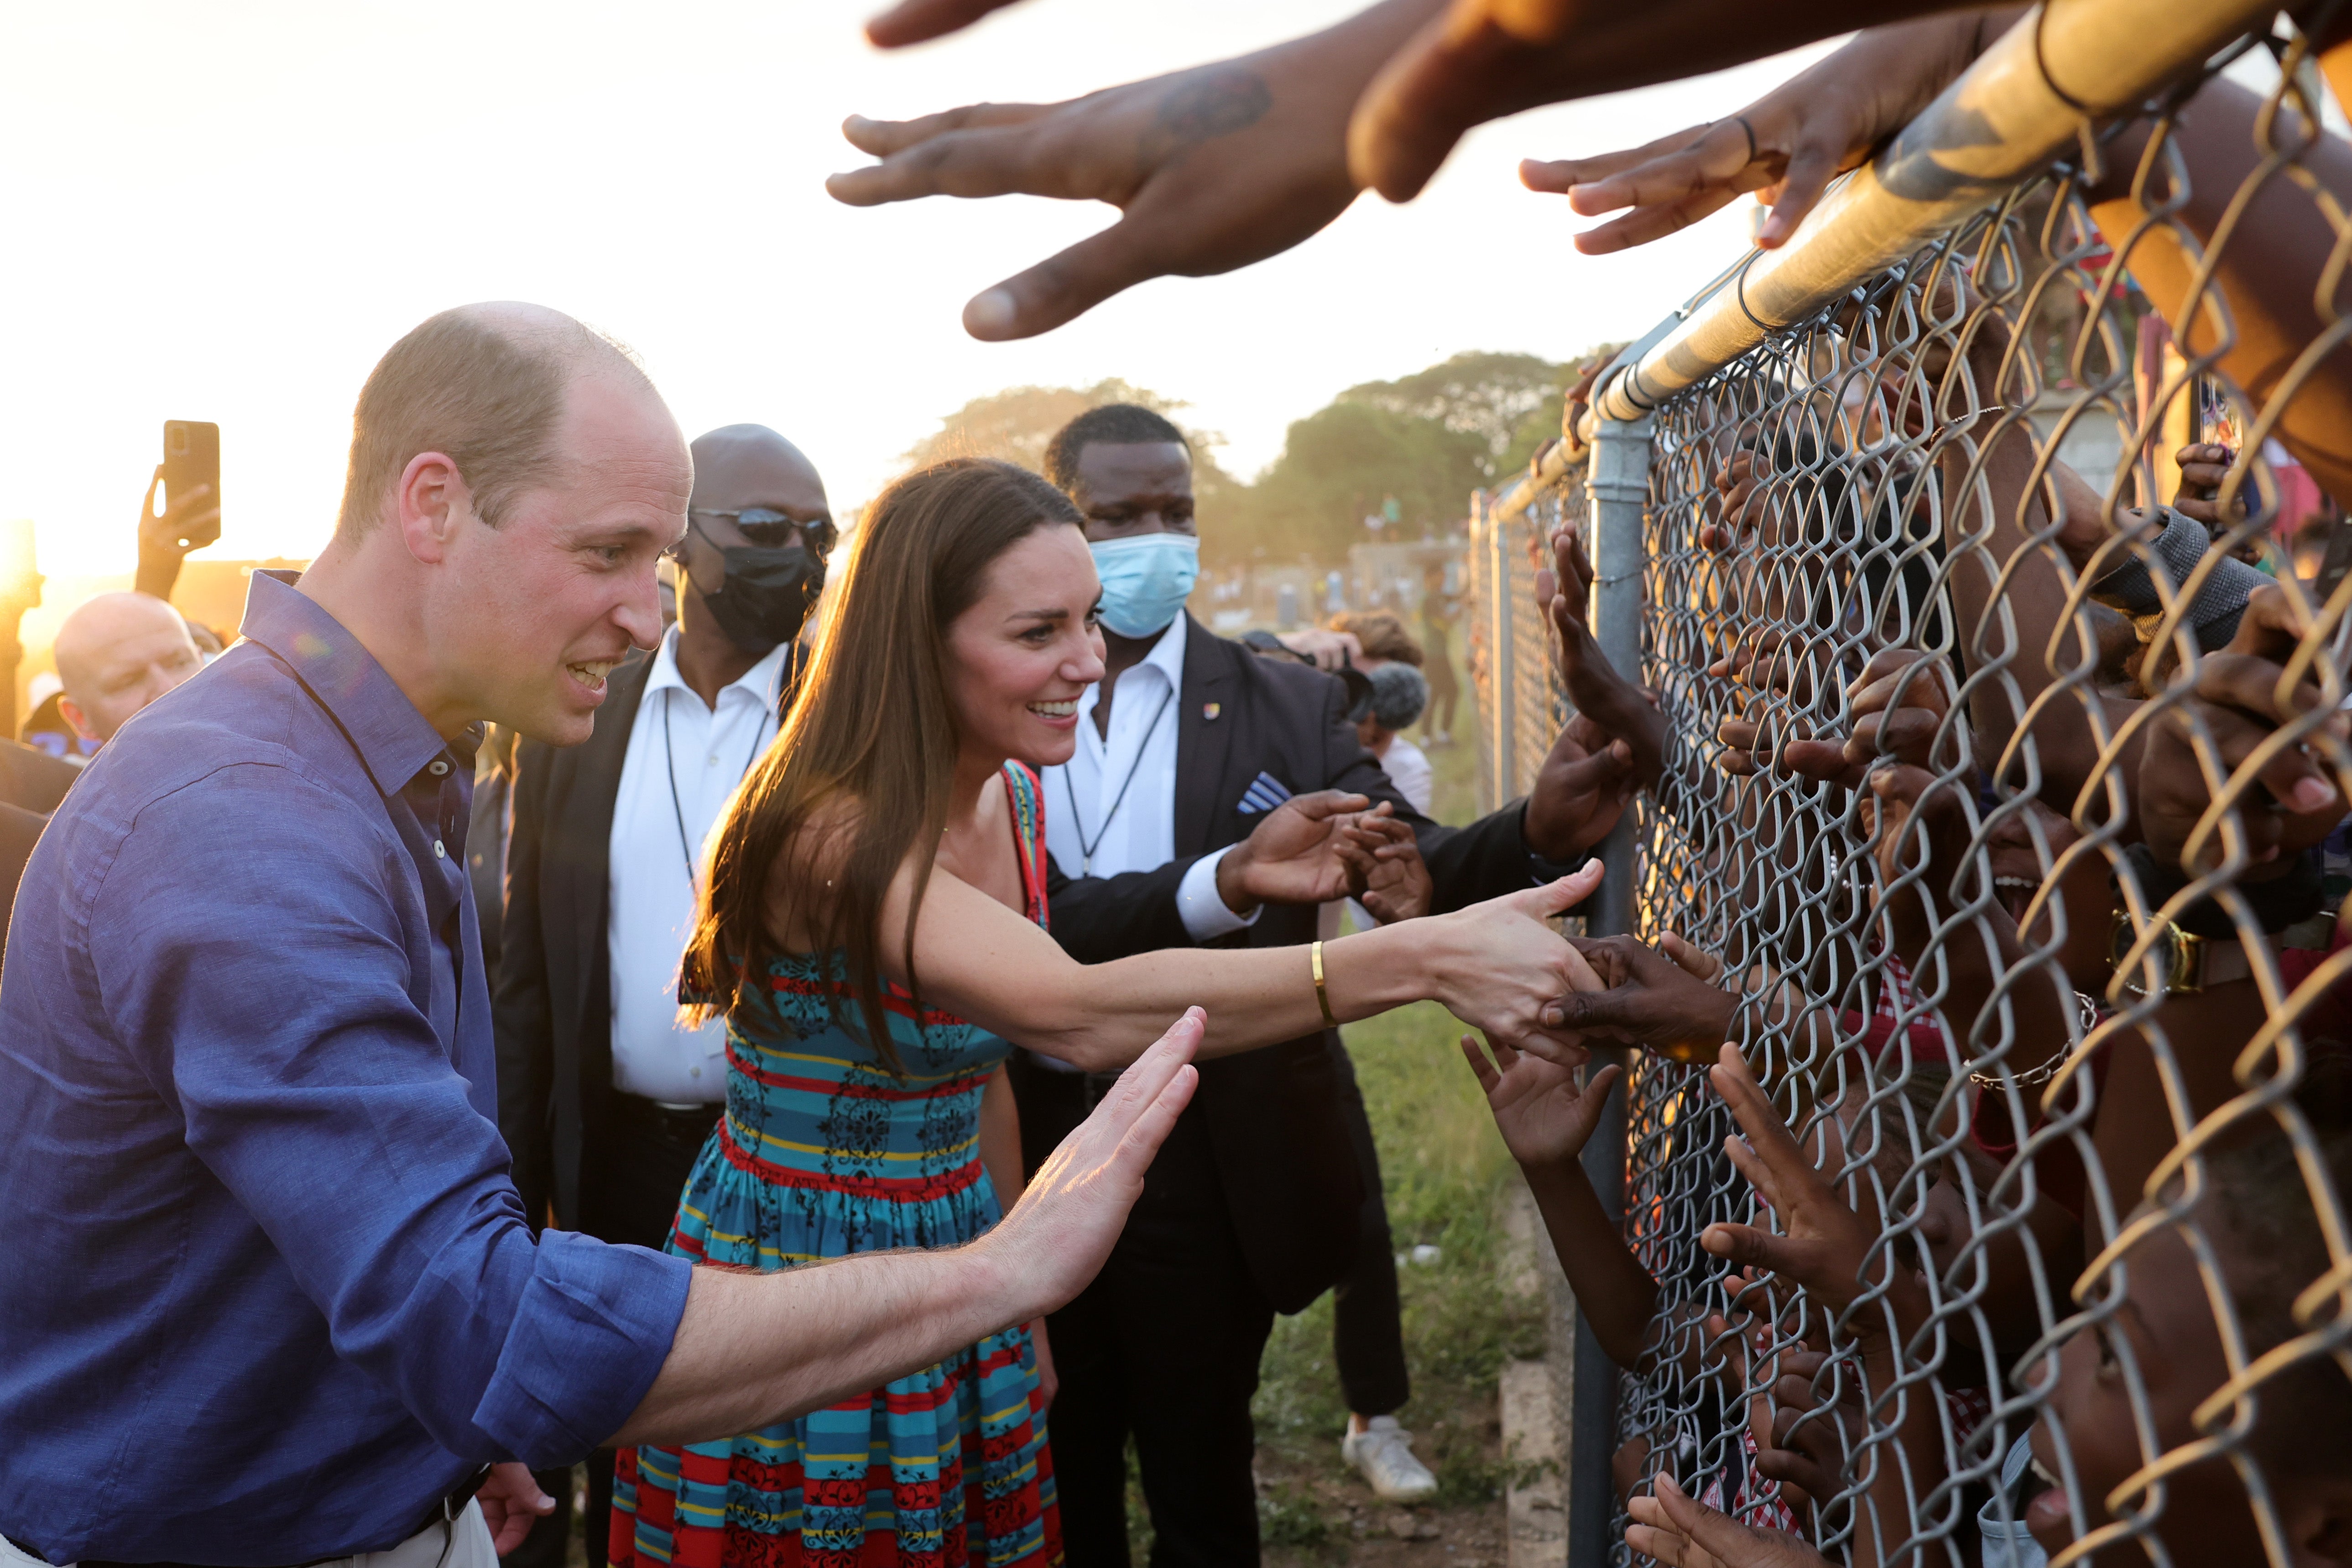
[[654,1387],[609,1446],[701,1443],[873,1389],[1077,1295],[1127,1225],[1143,1171],[1192,1098],[1188,1011],[969,1246],[739,1274],[694,1269]]

